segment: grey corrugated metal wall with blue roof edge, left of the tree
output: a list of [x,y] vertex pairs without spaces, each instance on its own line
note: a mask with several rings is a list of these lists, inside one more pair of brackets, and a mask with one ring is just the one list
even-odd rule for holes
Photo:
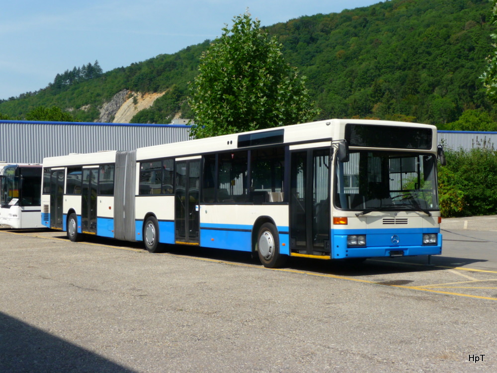
[[44,157],[133,150],[188,140],[190,126],[0,120],[0,162],[41,163]]

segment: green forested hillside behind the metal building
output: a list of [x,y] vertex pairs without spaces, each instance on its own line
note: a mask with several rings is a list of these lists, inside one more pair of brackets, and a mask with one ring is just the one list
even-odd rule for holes
[[[490,12],[488,0],[392,0],[266,30],[282,43],[287,62],[307,76],[321,109],[316,119],[374,117],[444,127],[468,109],[485,110],[495,121],[478,79],[493,48]],[[208,46],[206,41],[62,85],[59,76],[38,92],[0,102],[0,113],[24,118],[37,106],[56,105],[77,120],[93,121],[104,102],[128,89],[166,91],[133,122],[168,123],[178,112],[188,118],[188,82]]]

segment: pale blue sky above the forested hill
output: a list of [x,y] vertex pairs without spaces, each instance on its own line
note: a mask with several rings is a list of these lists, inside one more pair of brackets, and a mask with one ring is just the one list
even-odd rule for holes
[[0,9],[0,99],[98,60],[103,71],[221,35],[248,8],[263,26],[380,0],[15,0]]

